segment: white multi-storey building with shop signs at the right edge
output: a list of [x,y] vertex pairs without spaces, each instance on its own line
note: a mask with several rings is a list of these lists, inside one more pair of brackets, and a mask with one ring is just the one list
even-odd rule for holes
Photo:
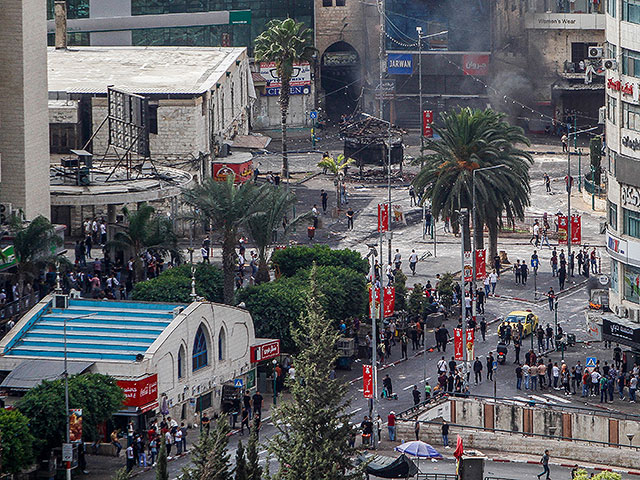
[[[607,251],[611,256],[610,303],[640,327],[640,4],[609,0],[607,56],[615,60],[606,79],[606,160],[608,177]],[[633,327],[633,328],[631,328]],[[631,333],[633,337],[633,334]],[[640,352],[640,338],[635,349]]]

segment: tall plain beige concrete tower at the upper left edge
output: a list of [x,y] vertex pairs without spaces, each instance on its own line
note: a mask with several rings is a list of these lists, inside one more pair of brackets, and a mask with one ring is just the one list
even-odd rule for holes
[[49,217],[46,10],[39,0],[0,8],[0,203]]

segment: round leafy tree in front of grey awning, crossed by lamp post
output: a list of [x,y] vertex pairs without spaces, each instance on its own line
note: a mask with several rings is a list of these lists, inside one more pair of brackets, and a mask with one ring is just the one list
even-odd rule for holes
[[[113,377],[97,373],[69,377],[69,406],[82,409],[82,436],[97,438],[97,427],[120,410],[124,393]],[[62,445],[67,416],[64,408],[64,381],[43,381],[16,404],[29,417],[38,453]],[[38,455],[40,456],[40,455]]]

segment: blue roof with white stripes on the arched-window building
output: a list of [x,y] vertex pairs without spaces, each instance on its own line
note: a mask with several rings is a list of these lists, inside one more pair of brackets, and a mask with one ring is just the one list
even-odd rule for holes
[[69,307],[49,303],[37,312],[5,349],[5,355],[67,357],[77,360],[134,361],[173,320],[175,305],[70,299]]

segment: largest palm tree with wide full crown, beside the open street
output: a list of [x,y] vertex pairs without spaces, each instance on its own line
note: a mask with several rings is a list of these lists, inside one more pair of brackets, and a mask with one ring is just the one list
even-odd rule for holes
[[[498,250],[498,229],[504,213],[509,221],[524,218],[529,205],[529,168],[531,155],[517,148],[529,145],[521,128],[504,120],[493,110],[464,108],[440,115],[441,125],[434,126],[439,140],[427,140],[427,155],[417,159],[424,166],[413,181],[414,186],[431,199],[434,218],[457,218],[460,209],[472,207],[473,170],[505,165],[476,175],[476,215],[474,228],[489,229],[489,258]],[[470,246],[468,229],[465,246]],[[483,248],[482,235],[476,248]]]

